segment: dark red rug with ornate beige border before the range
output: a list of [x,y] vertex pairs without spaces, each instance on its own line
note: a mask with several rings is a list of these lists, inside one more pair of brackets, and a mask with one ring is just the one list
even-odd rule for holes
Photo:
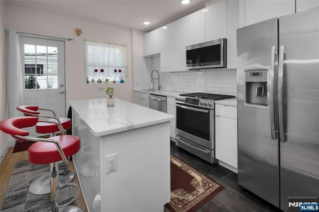
[[170,212],[194,212],[224,187],[170,155]]

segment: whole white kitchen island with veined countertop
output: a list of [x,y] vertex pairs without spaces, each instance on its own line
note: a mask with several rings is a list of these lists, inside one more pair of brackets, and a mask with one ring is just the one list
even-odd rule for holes
[[115,99],[70,101],[81,150],[73,161],[87,208],[162,212],[170,201],[173,115]]

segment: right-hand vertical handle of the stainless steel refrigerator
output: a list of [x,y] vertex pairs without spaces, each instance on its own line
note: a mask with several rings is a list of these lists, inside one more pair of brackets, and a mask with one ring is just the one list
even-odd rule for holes
[[287,133],[285,131],[284,120],[284,56],[286,54],[286,47],[281,45],[279,47],[278,55],[278,122],[279,122],[279,139],[281,142],[287,141]]

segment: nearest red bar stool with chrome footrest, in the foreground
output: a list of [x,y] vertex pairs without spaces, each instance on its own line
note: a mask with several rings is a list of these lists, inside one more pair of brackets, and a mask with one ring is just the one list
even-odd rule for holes
[[[29,161],[34,164],[50,164],[50,193],[52,212],[58,212],[59,208],[63,211],[81,212],[78,207],[70,205],[79,194],[79,187],[74,183],[68,183],[59,186],[59,164],[63,160],[68,163],[68,157],[76,154],[80,148],[80,138],[74,135],[58,135],[49,138],[38,138],[29,136],[29,132],[21,128],[34,126],[39,121],[38,117],[14,117],[0,121],[1,131],[10,134],[20,141],[32,140],[38,141],[32,144],[28,149]],[[77,188],[77,193],[68,203],[58,205],[59,189],[71,185]]]

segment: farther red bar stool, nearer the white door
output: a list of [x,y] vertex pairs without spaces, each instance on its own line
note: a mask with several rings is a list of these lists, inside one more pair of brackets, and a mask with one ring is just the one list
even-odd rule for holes
[[[64,135],[64,131],[71,127],[71,119],[70,118],[58,118],[56,114],[51,109],[42,109],[38,106],[17,106],[17,110],[23,112],[25,116],[37,116],[46,119],[45,121],[39,120],[35,124],[35,131],[37,133],[42,134],[51,134],[51,136],[55,136],[56,132],[60,132],[61,135]],[[38,110],[51,111],[53,116],[40,114]],[[70,170],[60,170],[60,184],[70,183],[74,178],[74,173]],[[41,175],[37,179],[33,181],[33,183],[29,186],[29,192],[34,195],[43,195],[50,193],[50,180],[49,175]]]

